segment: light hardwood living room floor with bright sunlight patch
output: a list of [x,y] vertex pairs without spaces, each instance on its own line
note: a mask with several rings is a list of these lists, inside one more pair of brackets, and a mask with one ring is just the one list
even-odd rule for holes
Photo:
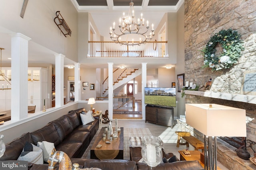
[[[117,118],[118,119],[118,118]],[[113,121],[113,120],[112,120]],[[113,121],[114,122],[114,121]],[[177,122],[174,120],[175,126],[173,128],[156,125],[154,123],[145,123],[145,120],[123,120],[118,119],[118,126],[119,127],[129,127],[129,128],[148,128],[152,135],[160,137],[164,142],[164,149],[166,152],[172,152],[180,159],[180,154],[178,150],[186,149],[186,145],[180,145],[179,148],[176,147],[177,144],[177,135],[175,131],[179,131]],[[106,127],[108,124],[100,124],[101,127]],[[194,147],[190,146],[189,150],[194,150]],[[218,167],[222,170],[228,170],[225,166],[218,162]]]

